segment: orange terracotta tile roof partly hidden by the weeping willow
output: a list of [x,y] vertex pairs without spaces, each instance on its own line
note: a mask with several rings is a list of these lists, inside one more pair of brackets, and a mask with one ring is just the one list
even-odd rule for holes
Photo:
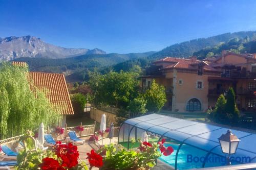
[[[24,66],[24,62],[13,62],[13,65]],[[62,111],[61,114],[68,115],[74,114],[67,83],[63,74],[53,74],[45,72],[29,72],[29,82],[33,83],[32,91],[36,87],[46,93],[50,102],[59,106]]]

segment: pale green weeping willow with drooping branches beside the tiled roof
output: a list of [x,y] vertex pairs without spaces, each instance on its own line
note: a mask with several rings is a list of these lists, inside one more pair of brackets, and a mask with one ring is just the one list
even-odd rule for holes
[[0,139],[34,130],[41,122],[54,125],[61,118],[60,109],[50,103],[45,92],[31,87],[27,76],[27,67],[0,63]]

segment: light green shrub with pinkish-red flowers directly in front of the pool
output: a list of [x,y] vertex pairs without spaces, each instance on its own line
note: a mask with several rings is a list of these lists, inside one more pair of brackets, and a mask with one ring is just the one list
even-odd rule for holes
[[[140,141],[139,151],[126,150],[120,145],[110,144],[102,147],[98,153],[103,156],[102,169],[136,169],[154,167],[155,160],[162,154],[168,156],[174,152],[172,147],[164,147],[165,139],[158,143]],[[160,149],[160,152],[158,151]],[[105,154],[103,154],[105,152]]]

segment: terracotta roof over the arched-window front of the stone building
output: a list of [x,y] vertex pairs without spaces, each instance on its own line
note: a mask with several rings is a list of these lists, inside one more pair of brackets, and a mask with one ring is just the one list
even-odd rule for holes
[[204,70],[206,71],[218,71],[217,69],[211,67],[208,65],[208,62],[204,62],[201,60],[193,61],[191,59],[182,59],[182,58],[172,58],[172,57],[166,57],[164,59],[155,61],[154,63],[161,63],[161,62],[167,62],[168,65],[165,66],[163,69],[172,69],[172,68],[178,68],[178,69],[192,69],[197,70],[198,64],[204,65]]

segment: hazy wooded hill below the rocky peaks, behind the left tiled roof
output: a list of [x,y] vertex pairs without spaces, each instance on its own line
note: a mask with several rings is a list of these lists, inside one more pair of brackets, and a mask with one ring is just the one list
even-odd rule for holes
[[31,71],[43,72],[75,72],[82,69],[92,69],[93,67],[102,68],[115,65],[120,62],[135,58],[144,58],[155,52],[131,53],[131,54],[90,54],[76,57],[49,59],[49,58],[17,58],[13,61],[23,61],[29,64]]

